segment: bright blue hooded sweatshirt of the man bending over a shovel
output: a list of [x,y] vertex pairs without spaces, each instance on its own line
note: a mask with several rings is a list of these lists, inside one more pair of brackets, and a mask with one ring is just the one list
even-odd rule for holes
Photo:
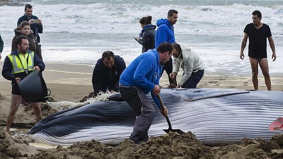
[[145,94],[151,92],[152,98],[158,108],[161,105],[157,96],[152,92],[159,84],[163,65],[159,64],[159,54],[156,49],[149,50],[134,59],[123,71],[119,83],[124,86],[134,86]]

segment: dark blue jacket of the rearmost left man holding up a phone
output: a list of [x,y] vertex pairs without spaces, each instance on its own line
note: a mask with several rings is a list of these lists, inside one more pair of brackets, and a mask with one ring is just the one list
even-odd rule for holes
[[[23,21],[30,21],[30,19],[38,19],[36,16],[31,15],[31,18],[27,17],[26,15],[23,15],[22,17],[19,18],[18,23],[17,23],[17,27],[19,26],[19,24],[21,24]],[[36,38],[36,41],[38,43],[40,43],[40,37],[38,35],[38,33],[42,33],[43,32],[43,27],[42,25],[39,25],[37,23],[32,23],[31,24],[31,30],[33,32],[34,37]]]

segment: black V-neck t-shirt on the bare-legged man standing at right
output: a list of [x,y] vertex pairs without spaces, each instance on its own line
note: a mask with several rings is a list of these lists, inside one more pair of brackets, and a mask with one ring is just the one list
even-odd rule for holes
[[250,23],[244,32],[249,35],[249,57],[267,58],[266,38],[271,36],[269,26],[263,24],[262,27],[256,29],[253,23]]

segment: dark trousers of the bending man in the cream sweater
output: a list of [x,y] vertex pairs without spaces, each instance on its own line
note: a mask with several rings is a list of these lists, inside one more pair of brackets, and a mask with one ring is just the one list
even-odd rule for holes
[[[183,76],[184,76],[184,73],[183,73]],[[196,88],[196,85],[202,79],[203,75],[204,75],[204,69],[199,70],[197,72],[191,72],[189,79],[182,86],[182,88]]]

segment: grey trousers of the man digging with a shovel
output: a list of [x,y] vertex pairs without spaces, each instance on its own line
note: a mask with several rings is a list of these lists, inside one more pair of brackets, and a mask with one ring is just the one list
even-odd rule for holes
[[136,144],[148,140],[148,130],[153,122],[155,108],[142,90],[136,87],[119,86],[123,99],[130,105],[137,115],[133,131],[129,139]]

